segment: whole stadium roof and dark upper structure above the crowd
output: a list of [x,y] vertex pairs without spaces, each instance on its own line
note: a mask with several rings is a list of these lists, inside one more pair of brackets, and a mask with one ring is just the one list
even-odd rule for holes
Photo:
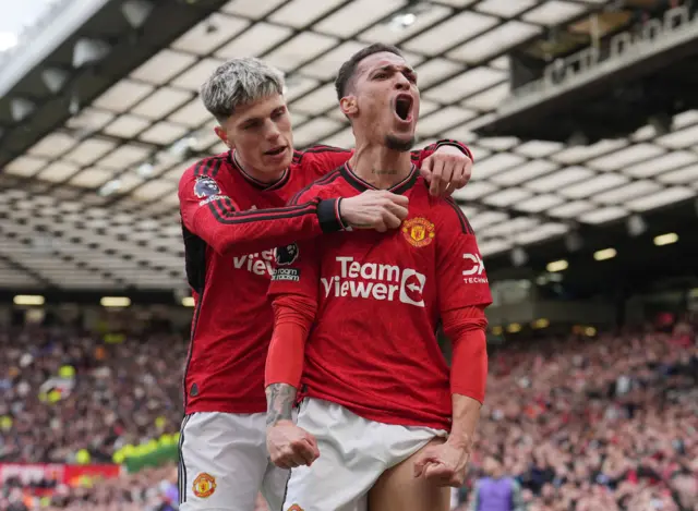
[[698,300],[697,9],[3,2],[0,326],[70,318],[118,334],[158,319],[185,331],[177,184],[225,149],[200,85],[226,59],[260,57],[286,74],[297,148],[349,147],[334,76],[376,41],[419,73],[419,145],[457,138],[476,156],[455,197],[485,256],[494,345],[676,319]]

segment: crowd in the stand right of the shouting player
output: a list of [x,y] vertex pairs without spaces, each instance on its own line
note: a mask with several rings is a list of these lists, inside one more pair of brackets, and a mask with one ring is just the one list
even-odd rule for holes
[[491,357],[472,479],[494,455],[527,511],[696,511],[697,379],[688,323],[507,346]]

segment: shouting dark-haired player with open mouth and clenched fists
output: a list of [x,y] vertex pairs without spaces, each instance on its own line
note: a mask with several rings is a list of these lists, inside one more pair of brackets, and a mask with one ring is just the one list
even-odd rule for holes
[[266,391],[272,461],[293,467],[282,509],[447,510],[484,399],[486,273],[461,209],[410,161],[419,89],[400,52],[372,45],[336,85],[356,153],[292,204],[388,190],[409,215],[399,230],[278,248]]

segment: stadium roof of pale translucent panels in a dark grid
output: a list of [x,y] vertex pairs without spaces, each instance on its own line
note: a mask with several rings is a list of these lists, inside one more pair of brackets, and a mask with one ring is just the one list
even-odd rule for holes
[[[225,149],[196,90],[233,57],[286,73],[297,147],[347,147],[336,71],[368,44],[399,46],[419,73],[420,145],[458,138],[474,151],[473,181],[456,198],[484,255],[698,193],[698,111],[670,133],[648,125],[591,146],[471,133],[509,94],[507,50],[603,0],[167,3],[134,27],[124,2],[107,2],[0,99],[0,287],[181,285],[177,183],[190,162]],[[81,40],[96,64],[75,69]],[[64,86],[47,86],[48,69]]]

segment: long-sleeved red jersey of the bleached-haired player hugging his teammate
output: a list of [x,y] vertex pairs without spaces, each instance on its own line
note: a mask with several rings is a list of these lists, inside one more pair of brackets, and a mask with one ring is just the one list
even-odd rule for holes
[[[412,153],[416,165],[443,141]],[[266,297],[274,248],[341,229],[336,199],[289,199],[352,151],[297,151],[272,185],[244,173],[232,153],[205,158],[179,184],[186,276],[195,300],[184,369],[185,413],[266,411],[264,364],[274,315]],[[308,195],[306,195],[308,196]],[[274,208],[273,210],[269,210]]]

